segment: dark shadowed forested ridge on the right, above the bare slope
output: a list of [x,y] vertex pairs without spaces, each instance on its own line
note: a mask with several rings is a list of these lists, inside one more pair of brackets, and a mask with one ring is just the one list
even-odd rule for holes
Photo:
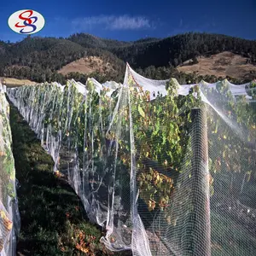
[[145,68],[177,67],[197,55],[214,55],[223,51],[231,51],[246,55],[256,62],[256,41],[233,38],[218,34],[186,33],[171,38],[131,44],[111,49],[123,61],[132,67]]

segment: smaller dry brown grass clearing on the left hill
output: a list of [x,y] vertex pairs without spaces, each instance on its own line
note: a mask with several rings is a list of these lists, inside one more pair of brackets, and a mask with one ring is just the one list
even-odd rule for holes
[[90,56],[68,63],[66,66],[61,67],[58,73],[67,75],[67,73],[71,72],[90,74],[93,72],[106,73],[109,71],[113,71],[110,63],[102,61],[100,57]]

